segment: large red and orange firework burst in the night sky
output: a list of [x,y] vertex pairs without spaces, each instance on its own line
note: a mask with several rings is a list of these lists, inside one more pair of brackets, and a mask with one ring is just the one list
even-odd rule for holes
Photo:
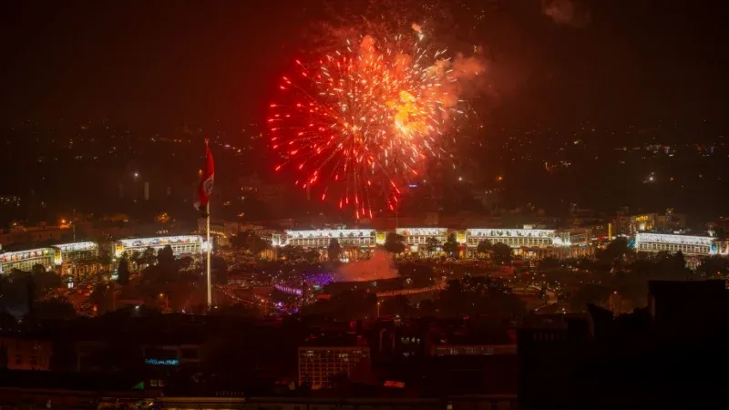
[[288,103],[272,104],[272,148],[282,164],[303,173],[296,185],[323,185],[340,209],[372,217],[380,198],[392,210],[399,187],[415,179],[425,159],[439,154],[438,140],[457,108],[458,82],[483,71],[477,60],[431,49],[422,27],[407,35],[365,35],[321,56],[296,61],[282,77]]

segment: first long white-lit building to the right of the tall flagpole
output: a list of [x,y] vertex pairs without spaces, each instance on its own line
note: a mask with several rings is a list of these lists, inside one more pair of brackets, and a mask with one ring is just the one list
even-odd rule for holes
[[[286,231],[279,243],[281,246],[325,249],[333,239],[342,248],[374,248],[377,240],[375,230],[310,230]],[[273,242],[276,242],[275,238]]]

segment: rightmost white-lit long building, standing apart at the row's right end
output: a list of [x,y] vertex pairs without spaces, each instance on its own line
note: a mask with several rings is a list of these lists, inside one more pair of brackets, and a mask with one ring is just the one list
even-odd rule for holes
[[687,236],[644,232],[635,234],[636,251],[682,251],[687,255],[714,255],[718,253],[719,245],[719,241],[710,236]]

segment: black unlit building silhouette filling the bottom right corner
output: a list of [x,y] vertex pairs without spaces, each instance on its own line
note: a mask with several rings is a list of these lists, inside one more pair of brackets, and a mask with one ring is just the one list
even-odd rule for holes
[[519,408],[726,408],[724,281],[650,282],[613,317],[534,315],[519,329]]

